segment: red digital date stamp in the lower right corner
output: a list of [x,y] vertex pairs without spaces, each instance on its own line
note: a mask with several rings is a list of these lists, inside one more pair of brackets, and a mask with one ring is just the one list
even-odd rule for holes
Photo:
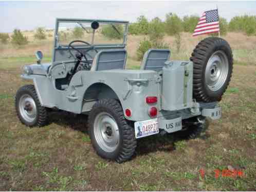
[[[200,173],[200,176],[202,179],[205,178],[205,170],[203,168],[201,168],[199,170],[199,173]],[[244,172],[243,170],[236,170],[236,169],[233,169],[233,170],[229,170],[229,169],[215,169],[214,170],[214,177],[215,179],[218,179],[219,177],[232,177],[232,178],[235,178],[235,177],[244,177]]]

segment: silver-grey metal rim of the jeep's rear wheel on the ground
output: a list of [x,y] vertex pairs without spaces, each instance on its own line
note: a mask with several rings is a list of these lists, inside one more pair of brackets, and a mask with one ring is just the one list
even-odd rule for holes
[[94,135],[105,152],[113,152],[119,143],[119,130],[115,119],[108,113],[99,113],[94,121]]

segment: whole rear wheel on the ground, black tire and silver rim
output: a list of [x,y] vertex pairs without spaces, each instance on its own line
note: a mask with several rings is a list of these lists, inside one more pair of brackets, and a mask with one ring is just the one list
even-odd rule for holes
[[135,152],[134,129],[126,121],[118,101],[102,99],[90,111],[89,135],[95,151],[118,163],[129,160]]

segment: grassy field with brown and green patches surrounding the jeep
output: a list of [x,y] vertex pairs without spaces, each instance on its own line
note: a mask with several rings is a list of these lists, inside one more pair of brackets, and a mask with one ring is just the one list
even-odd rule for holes
[[[138,68],[135,50],[143,37],[130,36],[128,68]],[[165,37],[173,59],[188,59],[199,38],[182,34],[181,52]],[[223,117],[207,121],[197,139],[174,135],[138,140],[129,162],[98,157],[84,115],[52,112],[50,124],[28,128],[15,115],[14,95],[23,84],[20,67],[42,50],[50,61],[51,41],[0,48],[0,190],[255,190],[256,37],[229,33],[234,69],[221,106]],[[50,96],[50,95],[49,95]],[[239,170],[231,177],[227,169]],[[205,173],[202,176],[202,170]],[[220,175],[217,177],[217,173]],[[222,174],[223,173],[223,174]]]

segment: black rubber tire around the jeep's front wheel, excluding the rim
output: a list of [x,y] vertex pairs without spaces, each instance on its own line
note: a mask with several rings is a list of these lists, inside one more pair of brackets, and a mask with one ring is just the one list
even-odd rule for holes
[[[31,121],[28,121],[26,120],[26,118],[24,118],[19,107],[20,99],[24,95],[30,96],[33,99],[36,106],[35,118]],[[44,126],[48,123],[47,110],[44,106],[41,106],[41,103],[38,99],[38,95],[36,94],[36,91],[32,84],[23,86],[17,91],[15,95],[15,109],[17,117],[23,124],[27,126]]]

